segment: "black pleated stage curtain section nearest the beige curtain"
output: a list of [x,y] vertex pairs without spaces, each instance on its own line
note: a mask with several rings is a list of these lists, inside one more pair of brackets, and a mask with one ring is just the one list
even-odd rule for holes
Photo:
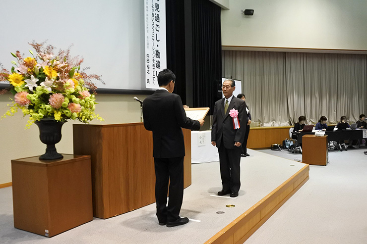
[[208,0],[192,0],[192,96],[194,107],[210,107],[222,78],[221,8]]

